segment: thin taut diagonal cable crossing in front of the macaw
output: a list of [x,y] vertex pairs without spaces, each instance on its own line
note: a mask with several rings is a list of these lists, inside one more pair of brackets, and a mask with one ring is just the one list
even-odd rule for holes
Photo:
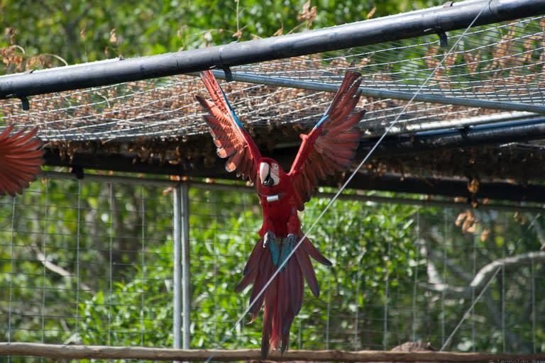
[[[335,201],[338,199],[338,196],[340,196],[342,194],[342,192],[346,189],[346,186],[348,186],[348,184],[350,183],[350,181],[353,179],[353,177],[356,176],[356,174],[359,172],[359,170],[363,167],[363,165],[367,162],[367,160],[369,160],[370,156],[373,155],[373,152],[375,152],[375,150],[378,148],[378,146],[380,145],[380,143],[382,143],[382,140],[384,140],[384,138],[386,137],[386,135],[390,132],[390,130],[392,130],[392,128],[394,127],[394,125],[397,125],[397,123],[400,122],[400,118],[401,116],[404,114],[405,111],[407,111],[407,108],[412,104],[412,102],[414,101],[414,99],[420,94],[420,92],[422,91],[422,89],[424,89],[424,87],[426,86],[426,84],[429,82],[429,80],[434,77],[434,74],[435,72],[437,71],[437,69],[439,69],[444,61],[446,60],[446,58],[448,57],[448,55],[450,55],[453,50],[458,46],[458,43],[460,43],[460,41],[464,38],[464,36],[468,33],[468,30],[473,26],[473,24],[475,23],[475,21],[477,21],[477,19],[479,18],[480,14],[483,13],[483,11],[488,7],[488,5],[490,4],[492,0],[488,0],[486,2],[486,4],[483,6],[483,9],[481,9],[479,11],[479,13],[475,16],[475,18],[473,19],[473,21],[471,21],[471,23],[468,25],[468,27],[463,31],[463,33],[461,34],[461,36],[456,40],[456,42],[452,45],[452,47],[448,50],[448,52],[445,53],[445,55],[443,56],[443,58],[441,59],[441,61],[436,65],[436,67],[434,67],[434,69],[432,69],[431,73],[429,74],[429,76],[424,80],[424,82],[422,82],[422,84],[419,86],[419,88],[417,89],[416,92],[414,92],[414,94],[412,95],[411,99],[409,99],[409,101],[407,101],[407,104],[405,104],[405,106],[402,108],[402,110],[400,111],[400,113],[397,114],[396,118],[394,119],[394,121],[392,121],[390,123],[390,125],[388,125],[388,127],[385,129],[384,133],[382,133],[382,135],[380,136],[380,138],[376,141],[375,145],[373,145],[373,147],[371,147],[371,149],[368,151],[367,155],[365,155],[365,157],[363,157],[363,160],[361,160],[361,162],[358,164],[358,166],[356,167],[356,169],[353,170],[353,172],[350,174],[350,176],[348,176],[348,178],[346,179],[346,181],[343,183],[343,185],[338,189],[338,191],[336,192],[336,194],[334,194],[333,197],[331,197],[331,199],[329,200],[329,202],[326,204],[326,206],[324,207],[324,209],[321,211],[321,213],[314,219],[314,222],[312,223],[312,225],[307,229],[307,232],[304,233],[304,235],[302,236],[302,238],[299,239],[299,241],[297,242],[297,244],[293,247],[292,251],[290,252],[289,255],[287,255],[287,257],[282,261],[282,263],[277,267],[276,271],[272,274],[272,276],[270,277],[270,279],[265,283],[265,285],[263,286],[263,288],[259,291],[259,293],[255,296],[255,298],[253,299],[253,301],[250,301],[250,304],[248,305],[248,308],[246,308],[246,311],[244,311],[241,316],[238,318],[238,320],[236,320],[236,323],[234,323],[233,327],[231,327],[229,330],[227,330],[226,334],[225,334],[225,337],[219,342],[216,344],[216,346],[214,347],[213,349],[213,352],[211,352],[210,356],[208,357],[208,359],[206,360],[206,363],[209,363],[211,361],[211,359],[214,358],[214,355],[216,353],[217,350],[219,350],[219,348],[221,347],[221,345],[224,344],[224,342],[226,341],[227,339],[227,333],[232,333],[233,330],[236,329],[236,326],[240,323],[242,323],[242,320],[244,319],[244,317],[250,312],[251,308],[253,307],[253,305],[259,300],[260,296],[265,294],[265,290],[268,288],[268,286],[270,284],[272,284],[272,281],[277,277],[277,275],[280,273],[280,271],[285,267],[285,264],[287,264],[287,262],[290,260],[290,258],[292,257],[292,255],[297,251],[297,248],[299,248],[299,246],[302,244],[302,242],[305,240],[305,238],[307,238],[307,235],[309,235],[312,230],[314,230],[314,228],[316,227],[316,225],[319,223],[319,221],[321,220],[321,218],[325,215],[325,213],[327,211],[329,211],[329,208],[331,208],[331,206],[333,205],[333,203],[335,203]],[[493,277],[492,277],[493,278]],[[489,281],[489,284],[490,284],[490,281]]]

